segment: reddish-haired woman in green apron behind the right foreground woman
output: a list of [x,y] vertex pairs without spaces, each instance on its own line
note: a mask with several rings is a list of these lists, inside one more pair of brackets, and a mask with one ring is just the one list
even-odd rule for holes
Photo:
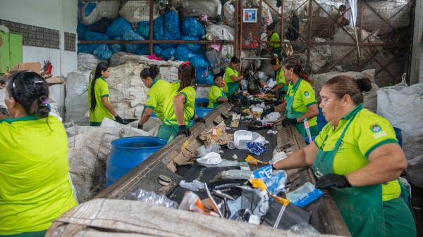
[[285,96],[286,105],[279,105],[264,111],[264,115],[271,112],[281,112],[286,106],[285,119],[282,121],[283,126],[295,125],[297,131],[306,137],[304,127],[304,119],[307,118],[309,129],[312,136],[319,134],[317,127],[317,108],[314,89],[312,88],[312,80],[305,75],[300,61],[296,58],[288,58],[283,62],[283,73],[289,82],[288,91]]

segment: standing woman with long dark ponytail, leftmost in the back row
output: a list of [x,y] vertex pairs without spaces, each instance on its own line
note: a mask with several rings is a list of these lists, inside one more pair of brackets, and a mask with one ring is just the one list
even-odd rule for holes
[[115,112],[109,103],[109,85],[106,79],[109,77],[110,68],[107,63],[99,63],[95,68],[94,77],[88,84],[88,108],[90,111],[90,126],[99,127],[104,117],[116,122],[123,120]]

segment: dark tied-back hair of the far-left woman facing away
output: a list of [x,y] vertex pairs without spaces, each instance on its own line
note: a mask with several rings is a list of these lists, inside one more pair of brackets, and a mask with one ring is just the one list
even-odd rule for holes
[[36,72],[22,71],[11,75],[7,89],[28,115],[48,117],[49,85]]

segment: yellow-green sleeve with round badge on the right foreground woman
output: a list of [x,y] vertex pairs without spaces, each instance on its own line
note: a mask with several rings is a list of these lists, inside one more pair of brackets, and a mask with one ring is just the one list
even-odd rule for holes
[[376,115],[360,121],[358,148],[366,158],[369,158],[374,149],[387,143],[398,143],[393,127],[388,120]]

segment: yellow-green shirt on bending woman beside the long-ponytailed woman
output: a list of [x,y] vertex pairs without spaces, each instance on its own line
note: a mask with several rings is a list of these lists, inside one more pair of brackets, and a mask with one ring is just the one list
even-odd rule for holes
[[151,108],[161,121],[164,119],[164,99],[169,96],[170,91],[171,84],[168,81],[156,78],[147,93],[147,103],[145,107]]

